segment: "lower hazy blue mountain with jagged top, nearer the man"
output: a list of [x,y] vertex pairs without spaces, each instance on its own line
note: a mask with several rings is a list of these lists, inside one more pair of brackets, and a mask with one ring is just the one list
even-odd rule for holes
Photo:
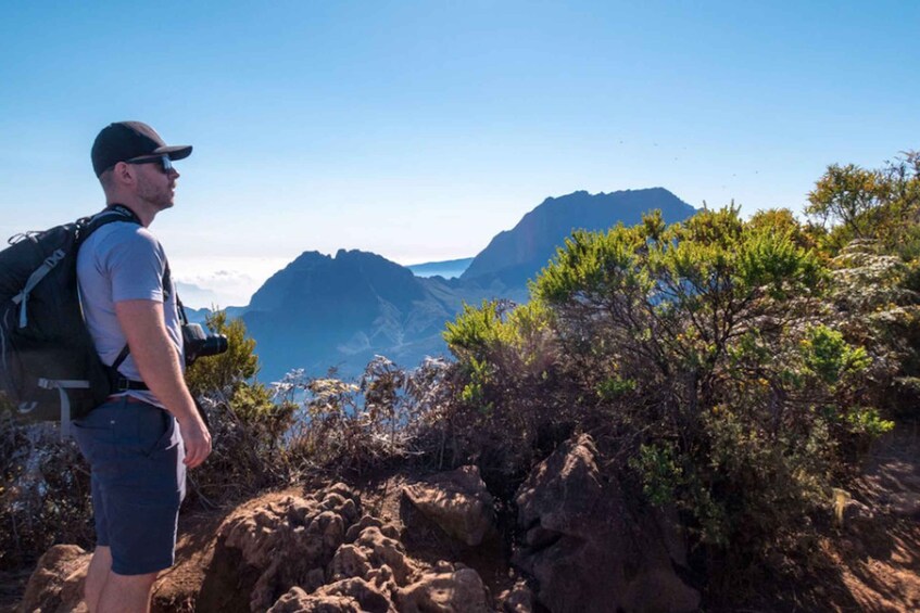
[[307,252],[253,295],[243,321],[268,379],[293,368],[357,373],[375,354],[413,366],[443,352],[456,294],[379,255]]

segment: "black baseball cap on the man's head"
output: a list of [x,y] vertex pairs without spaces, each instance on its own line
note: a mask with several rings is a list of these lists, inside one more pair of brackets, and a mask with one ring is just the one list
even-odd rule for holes
[[168,155],[182,159],[191,155],[190,144],[167,145],[156,130],[140,122],[116,122],[102,128],[92,143],[92,169],[99,177],[117,164],[144,155]]

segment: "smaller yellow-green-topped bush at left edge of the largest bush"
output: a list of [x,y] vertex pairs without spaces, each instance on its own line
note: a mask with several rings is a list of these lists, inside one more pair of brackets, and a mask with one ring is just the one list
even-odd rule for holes
[[551,317],[540,302],[487,301],[446,324],[457,356],[457,393],[444,416],[446,461],[475,462],[495,488],[513,489],[583,417],[568,401],[570,373],[558,362]]

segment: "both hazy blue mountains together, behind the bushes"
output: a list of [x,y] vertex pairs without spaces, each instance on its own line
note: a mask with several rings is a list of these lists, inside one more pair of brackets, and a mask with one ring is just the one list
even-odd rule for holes
[[[374,355],[416,366],[426,355],[446,353],[444,323],[463,304],[483,298],[527,299],[533,278],[574,229],[606,230],[660,208],[669,222],[694,213],[667,190],[655,188],[591,195],[576,192],[547,199],[514,229],[495,237],[459,278],[424,278],[409,268],[361,251],[335,257],[305,252],[276,272],[242,314],[272,381],[303,368],[311,376],[330,367],[342,376],[360,373]],[[424,269],[424,272],[431,268]]]

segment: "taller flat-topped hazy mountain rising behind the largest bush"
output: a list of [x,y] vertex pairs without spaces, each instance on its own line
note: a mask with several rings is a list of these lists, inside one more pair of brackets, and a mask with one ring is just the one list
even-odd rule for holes
[[682,221],[695,213],[664,188],[608,194],[579,191],[547,197],[513,229],[492,239],[462,279],[494,277],[509,286],[526,283],[546,266],[572,230],[607,230],[617,221],[632,226],[642,220],[643,213],[655,208],[661,209],[668,224]]

